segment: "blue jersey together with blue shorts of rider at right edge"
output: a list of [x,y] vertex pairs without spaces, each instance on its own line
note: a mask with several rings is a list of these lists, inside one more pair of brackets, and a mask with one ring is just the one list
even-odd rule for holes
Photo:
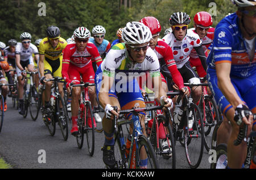
[[207,58],[208,82],[218,107],[224,114],[232,108],[232,105],[218,88],[215,69],[215,65],[218,63],[231,63],[230,81],[236,89],[237,95],[249,109],[253,112],[256,110],[255,50],[252,52],[247,50],[238,24],[239,19],[236,13],[226,16],[218,23],[214,32],[212,49]]

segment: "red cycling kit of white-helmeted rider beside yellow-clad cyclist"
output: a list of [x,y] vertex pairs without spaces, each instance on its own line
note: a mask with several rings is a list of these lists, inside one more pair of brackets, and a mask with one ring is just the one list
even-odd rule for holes
[[[100,66],[102,62],[98,49],[92,42],[87,43],[83,52],[78,52],[76,48],[76,44],[68,44],[63,52],[61,75],[67,83],[70,83],[71,80],[74,79],[76,79],[76,82],[80,80],[80,75],[78,75],[75,70],[77,70],[79,74],[82,74],[84,82],[86,82],[85,80],[87,79],[84,79],[85,76],[94,79],[91,59],[97,63],[97,66]],[[72,63],[72,71],[69,70],[69,63]],[[78,83],[80,83],[80,81]]]

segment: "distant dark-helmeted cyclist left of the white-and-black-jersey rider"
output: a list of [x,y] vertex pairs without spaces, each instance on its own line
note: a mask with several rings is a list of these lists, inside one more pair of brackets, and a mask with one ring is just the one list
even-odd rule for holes
[[[8,45],[4,50],[4,60],[6,62],[9,63],[9,68],[10,70],[13,70],[15,68],[15,48],[16,48],[16,45],[17,45],[17,41],[14,40],[14,39],[10,39],[8,41]],[[14,76],[14,72],[13,71],[7,71],[5,72],[6,76],[7,76],[7,79],[8,79],[8,83],[9,84],[13,84],[13,76]],[[13,87],[10,87],[10,90],[11,92],[15,93],[13,91]]]

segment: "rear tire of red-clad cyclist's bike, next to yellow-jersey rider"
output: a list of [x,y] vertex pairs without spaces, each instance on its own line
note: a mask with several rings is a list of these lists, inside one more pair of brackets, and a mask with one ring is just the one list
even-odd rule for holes
[[[79,107],[81,104],[79,105]],[[81,111],[82,110],[82,111]],[[76,142],[79,149],[82,148],[82,145],[84,145],[84,126],[85,126],[85,110],[84,108],[79,109],[79,114],[77,116],[77,126],[79,129],[79,134],[76,136]]]

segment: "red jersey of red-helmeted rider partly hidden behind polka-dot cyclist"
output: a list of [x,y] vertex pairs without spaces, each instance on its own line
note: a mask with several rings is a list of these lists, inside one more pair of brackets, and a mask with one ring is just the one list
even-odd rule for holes
[[[195,28],[191,28],[191,30],[196,33]],[[212,42],[213,42],[214,30],[215,30],[215,28],[209,28],[207,35],[201,39],[202,46],[204,48],[204,53],[206,56],[208,56],[207,50],[208,50],[210,44],[212,44]],[[201,78],[203,78],[206,75],[206,72],[204,70],[204,67],[203,67],[195,49],[192,49],[191,53],[189,54],[189,57],[190,57],[189,62],[191,64],[191,67],[195,66],[197,74]]]

